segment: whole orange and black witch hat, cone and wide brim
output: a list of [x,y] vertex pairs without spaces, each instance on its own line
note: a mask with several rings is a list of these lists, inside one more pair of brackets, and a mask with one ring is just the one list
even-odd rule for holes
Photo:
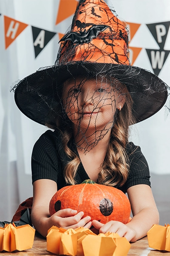
[[59,117],[64,120],[63,82],[79,76],[100,81],[114,78],[124,84],[135,122],[163,107],[167,85],[153,73],[130,66],[125,23],[104,0],[79,0],[72,24],[60,41],[55,64],[40,68],[14,87],[15,102],[30,119],[54,127]]

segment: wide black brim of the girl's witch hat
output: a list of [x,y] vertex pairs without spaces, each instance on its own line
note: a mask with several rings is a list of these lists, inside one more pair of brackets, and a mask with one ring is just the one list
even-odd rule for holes
[[14,99],[28,118],[42,125],[55,125],[53,111],[60,103],[63,81],[80,75],[106,73],[127,86],[133,100],[136,123],[153,116],[164,106],[167,86],[153,73],[135,66],[87,61],[41,68],[15,86]]

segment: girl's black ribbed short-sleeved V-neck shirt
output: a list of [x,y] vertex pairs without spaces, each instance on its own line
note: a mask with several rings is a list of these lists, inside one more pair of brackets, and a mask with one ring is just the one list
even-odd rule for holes
[[[78,154],[74,143],[70,147]],[[125,184],[123,186],[118,185],[116,188],[126,193],[130,186],[138,184],[150,186],[149,167],[140,147],[130,142],[126,146],[126,151],[130,164],[129,175]],[[70,185],[66,184],[63,175],[63,170],[68,161],[70,159],[62,147],[60,131],[46,131],[40,136],[33,148],[31,160],[32,183],[39,179],[50,179],[57,183],[57,189]],[[87,179],[90,178],[80,162],[75,180],[79,184]]]

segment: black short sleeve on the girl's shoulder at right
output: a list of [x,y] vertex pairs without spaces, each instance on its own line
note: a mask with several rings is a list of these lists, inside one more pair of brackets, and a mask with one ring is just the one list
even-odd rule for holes
[[127,145],[127,155],[129,157],[129,175],[125,183],[127,190],[131,186],[146,184],[150,186],[150,172],[147,160],[142,154],[141,148],[130,142]]

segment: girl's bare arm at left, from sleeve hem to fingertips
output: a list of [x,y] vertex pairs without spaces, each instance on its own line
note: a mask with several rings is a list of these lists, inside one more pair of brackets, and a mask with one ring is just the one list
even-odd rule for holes
[[[31,221],[35,229],[46,236],[50,227],[57,226],[68,228],[83,227],[90,221],[90,217],[82,218],[83,212],[77,213],[72,209],[63,209],[50,217],[49,203],[52,196],[57,192],[57,184],[53,180],[42,179],[33,183],[33,206],[31,211]],[[82,219],[81,219],[82,218]],[[91,227],[89,222],[86,227]]]

